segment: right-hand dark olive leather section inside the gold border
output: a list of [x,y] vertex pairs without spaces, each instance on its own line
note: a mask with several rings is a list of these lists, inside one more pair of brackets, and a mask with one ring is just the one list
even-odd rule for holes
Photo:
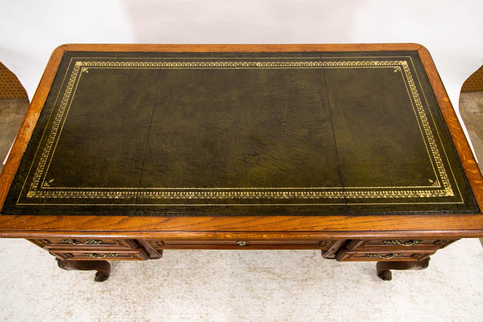
[[411,99],[400,95],[399,71],[327,69],[324,76],[344,186],[367,186],[368,178],[378,187],[437,180]]

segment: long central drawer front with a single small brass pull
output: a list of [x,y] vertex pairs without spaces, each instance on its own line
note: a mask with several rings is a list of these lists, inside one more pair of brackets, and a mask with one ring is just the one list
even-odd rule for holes
[[329,250],[337,240],[327,239],[145,239],[154,249],[320,249]]

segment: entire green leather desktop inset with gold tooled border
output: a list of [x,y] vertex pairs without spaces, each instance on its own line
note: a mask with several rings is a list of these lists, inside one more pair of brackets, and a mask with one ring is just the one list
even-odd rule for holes
[[412,51],[67,52],[1,210],[478,212]]

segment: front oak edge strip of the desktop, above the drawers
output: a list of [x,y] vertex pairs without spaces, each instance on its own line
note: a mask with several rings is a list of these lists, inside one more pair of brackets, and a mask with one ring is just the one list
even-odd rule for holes
[[[437,220],[428,220],[428,217]],[[464,238],[481,215],[401,216],[0,216],[0,237]],[[8,227],[5,229],[4,227]],[[105,234],[105,235],[103,235]],[[235,234],[235,235],[233,235]],[[397,235],[397,236],[396,236]],[[213,237],[211,237],[213,236]],[[231,236],[231,237],[230,237]]]

